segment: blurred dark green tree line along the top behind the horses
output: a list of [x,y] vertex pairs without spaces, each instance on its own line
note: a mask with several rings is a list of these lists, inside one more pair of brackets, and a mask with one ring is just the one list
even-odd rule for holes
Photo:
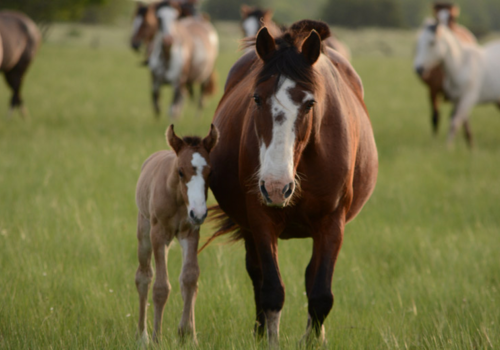
[[[270,8],[281,23],[303,18],[332,25],[358,27],[418,27],[431,15],[433,0],[201,0],[202,10],[215,20],[239,20],[242,4]],[[478,35],[500,30],[500,0],[455,0],[459,21]],[[53,21],[111,23],[130,19],[130,0],[0,0],[0,9],[27,13],[41,26]]]

